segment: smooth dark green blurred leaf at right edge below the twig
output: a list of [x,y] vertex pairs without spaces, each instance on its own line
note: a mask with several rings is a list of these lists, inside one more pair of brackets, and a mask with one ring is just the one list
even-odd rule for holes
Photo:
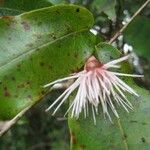
[[148,17],[137,17],[124,32],[127,43],[133,46],[133,50],[139,55],[149,59],[150,43],[150,19]]

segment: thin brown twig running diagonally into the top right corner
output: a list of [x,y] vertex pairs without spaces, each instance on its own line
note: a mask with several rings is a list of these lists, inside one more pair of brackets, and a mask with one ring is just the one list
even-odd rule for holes
[[148,5],[148,3],[150,2],[150,0],[147,0],[136,12],[135,14],[130,18],[130,21],[124,25],[108,42],[109,44],[111,44],[112,42],[114,42],[119,35],[122,34],[122,32],[127,28],[127,26],[134,20],[134,18]]

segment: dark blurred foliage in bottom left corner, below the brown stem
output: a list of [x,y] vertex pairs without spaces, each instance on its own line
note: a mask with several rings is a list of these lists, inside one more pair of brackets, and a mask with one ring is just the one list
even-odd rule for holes
[[[45,109],[60,92],[53,92],[41,103],[34,106],[0,140],[0,150],[68,150],[69,132],[67,119],[61,109],[57,116],[45,113]],[[64,106],[65,107],[65,106]],[[60,118],[62,117],[62,118]]]

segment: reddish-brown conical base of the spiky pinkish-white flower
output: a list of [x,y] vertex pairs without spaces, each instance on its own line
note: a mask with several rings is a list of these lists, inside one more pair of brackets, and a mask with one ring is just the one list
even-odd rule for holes
[[100,63],[94,56],[92,56],[87,60],[84,69],[86,71],[93,71],[102,66],[103,66],[103,64]]

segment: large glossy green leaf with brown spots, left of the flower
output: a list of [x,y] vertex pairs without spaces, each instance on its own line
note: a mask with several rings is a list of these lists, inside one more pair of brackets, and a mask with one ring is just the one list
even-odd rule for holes
[[45,95],[41,86],[76,71],[93,52],[91,13],[60,5],[0,19],[0,119]]

